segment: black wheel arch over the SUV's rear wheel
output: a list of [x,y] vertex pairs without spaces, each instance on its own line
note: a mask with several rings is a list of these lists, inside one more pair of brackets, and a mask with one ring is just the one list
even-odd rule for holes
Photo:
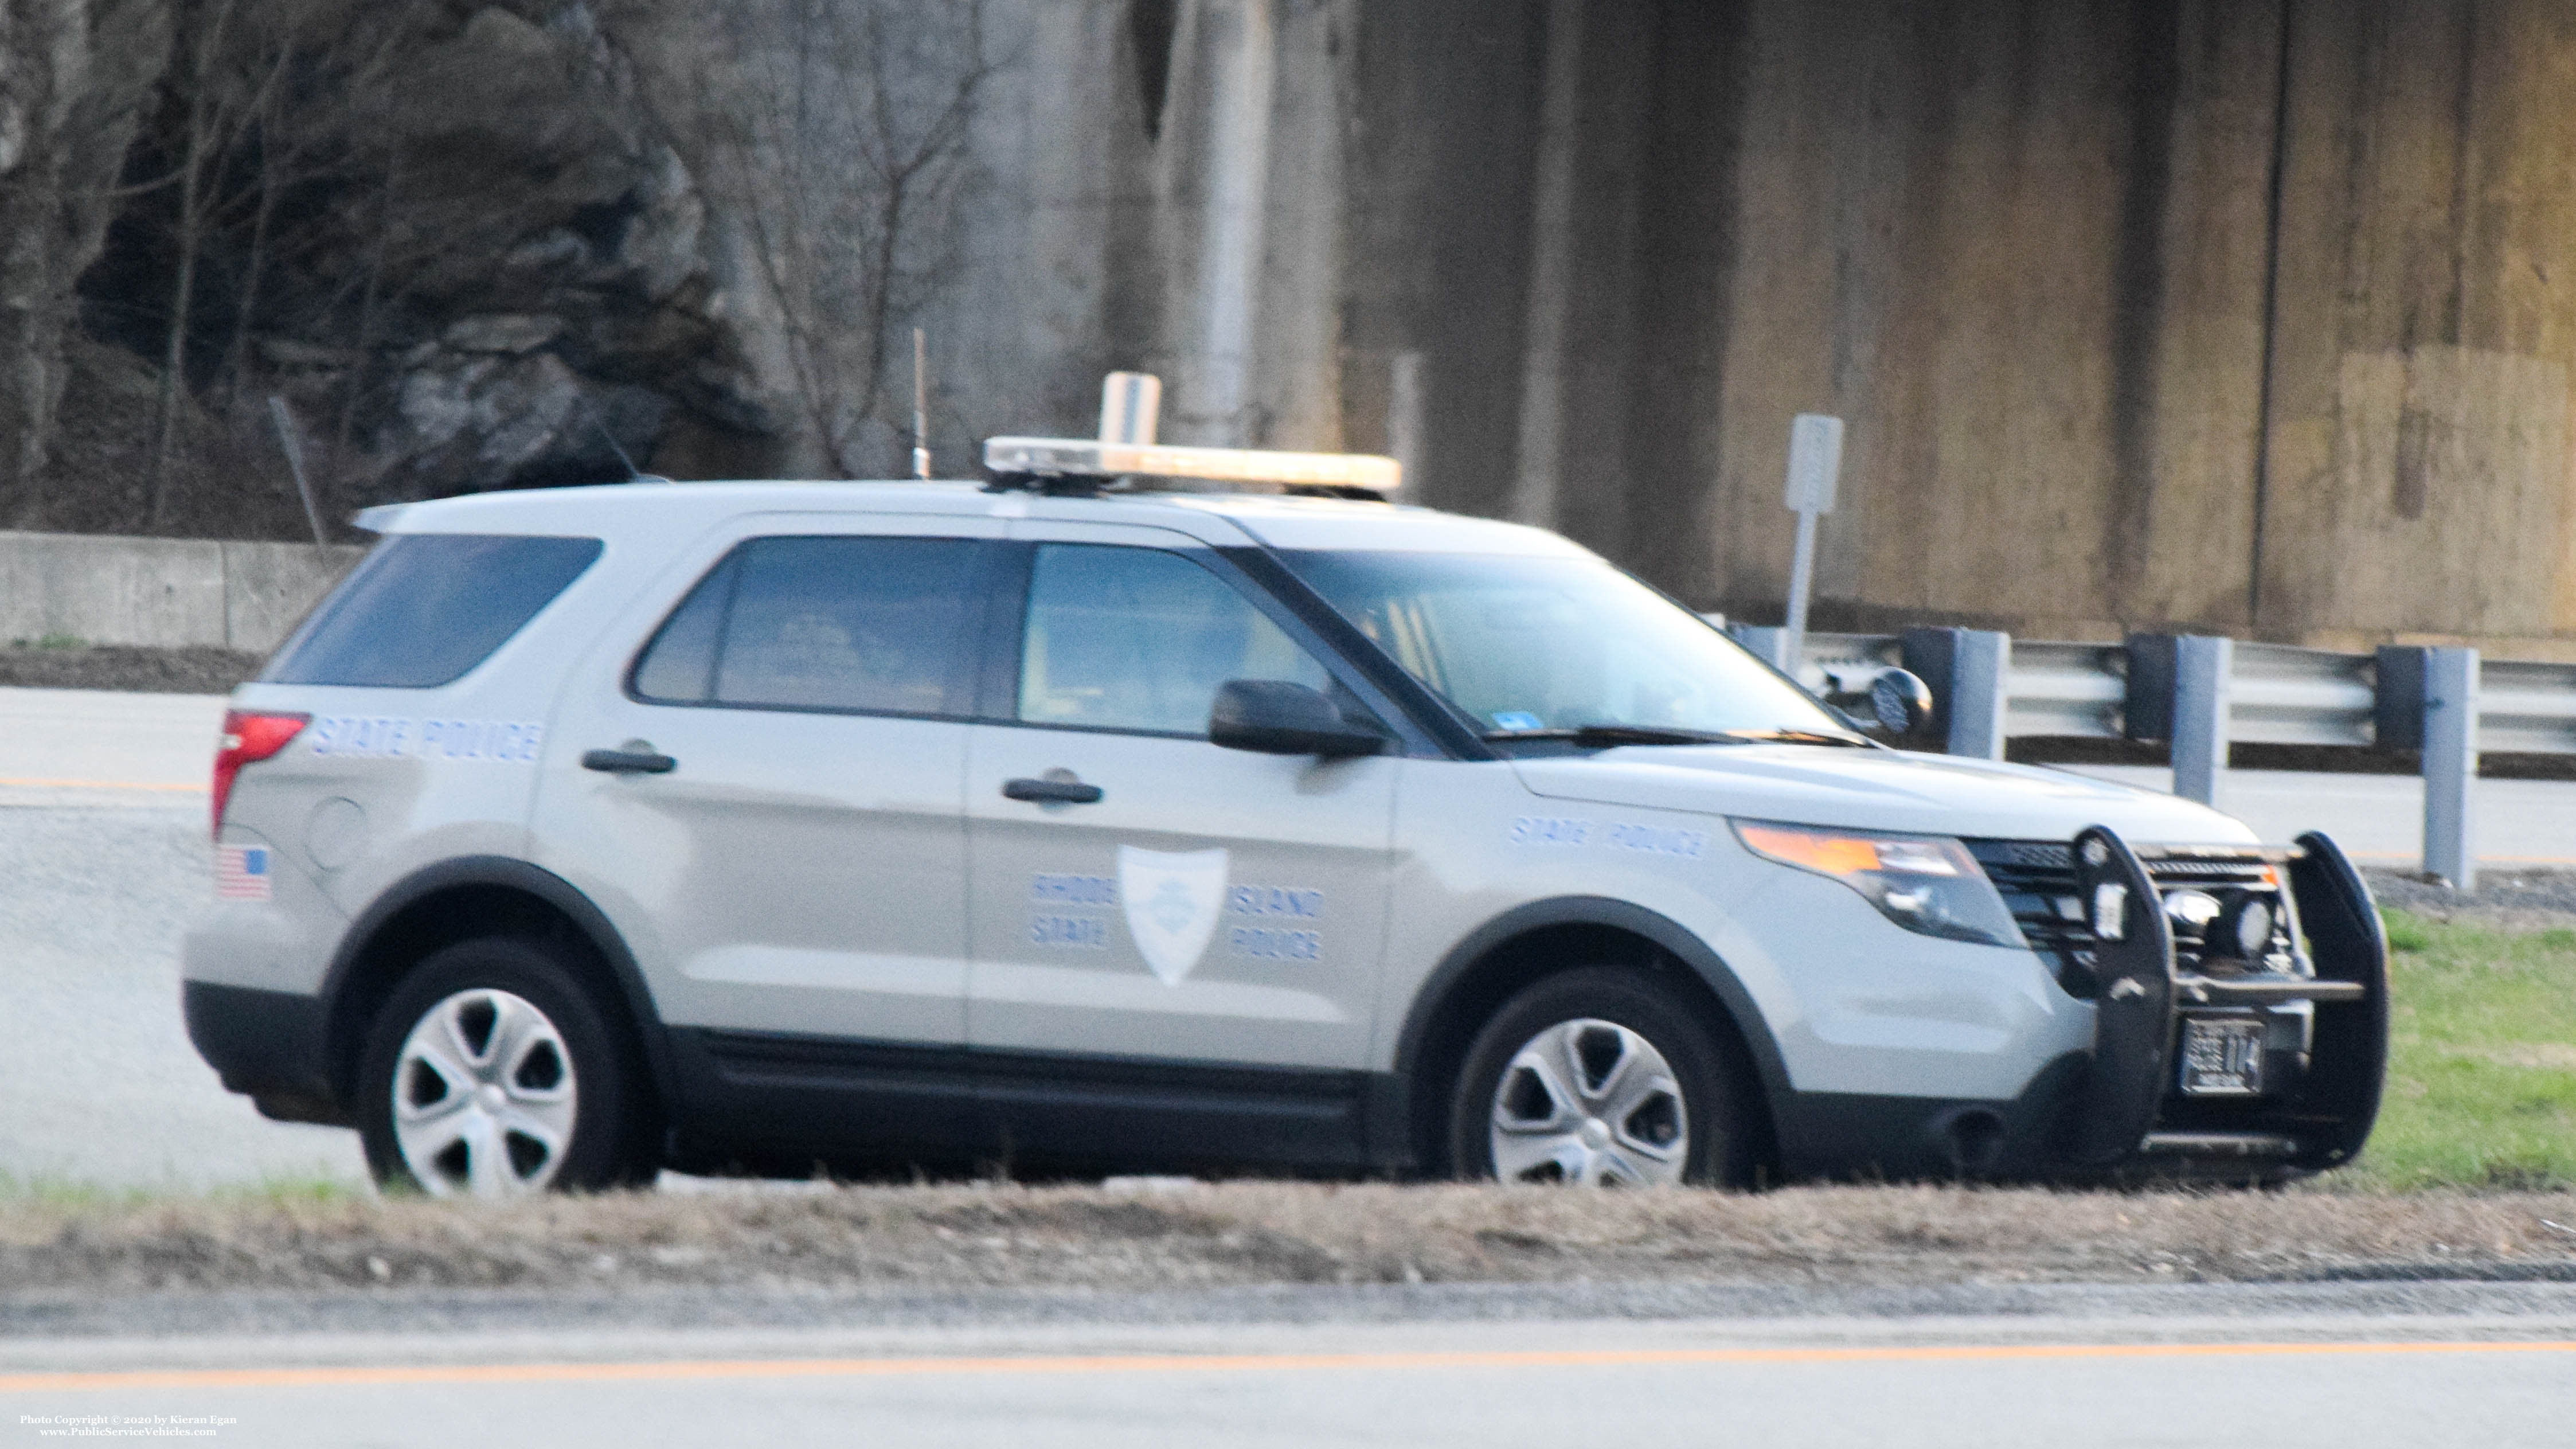
[[652,990],[608,915],[564,877],[507,856],[459,856],[412,871],[379,895],[340,936],[322,977],[322,1070],[343,1109],[353,1104],[358,1052],[376,1008],[402,977],[443,946],[477,936],[528,936],[572,946],[577,969],[600,987],[600,1006],[644,1055],[665,1111],[675,1111],[675,1070]]

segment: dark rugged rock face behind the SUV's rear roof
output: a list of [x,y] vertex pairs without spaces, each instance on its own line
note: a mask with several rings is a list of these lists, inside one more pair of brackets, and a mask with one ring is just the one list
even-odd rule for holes
[[[425,157],[422,258],[371,436],[386,495],[618,480],[675,402],[757,454],[711,307],[706,206],[587,5],[487,5],[417,57],[386,129]],[[750,428],[744,428],[750,423]]]

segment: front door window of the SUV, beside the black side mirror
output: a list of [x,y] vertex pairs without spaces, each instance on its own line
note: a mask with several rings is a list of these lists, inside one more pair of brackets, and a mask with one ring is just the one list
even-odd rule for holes
[[1206,737],[1216,688],[1231,678],[1332,686],[1270,616],[1182,554],[1038,544],[1023,722]]

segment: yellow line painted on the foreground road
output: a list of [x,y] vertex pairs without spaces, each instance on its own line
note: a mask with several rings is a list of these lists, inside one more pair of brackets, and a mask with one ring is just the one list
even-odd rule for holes
[[677,1379],[845,1379],[940,1374],[1267,1374],[1293,1369],[1636,1369],[1716,1364],[1960,1364],[2032,1359],[2313,1359],[2352,1354],[2576,1354],[2514,1343],[1950,1343],[1888,1348],[1602,1348],[1484,1354],[1095,1354],[1028,1359],[688,1359],[667,1364],[422,1364],[337,1369],[118,1369],[0,1374],[0,1392],[276,1390],[397,1385],[585,1385]]

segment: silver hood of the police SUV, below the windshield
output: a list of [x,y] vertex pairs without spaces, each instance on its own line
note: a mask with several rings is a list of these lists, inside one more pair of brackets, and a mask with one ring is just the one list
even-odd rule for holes
[[1623,745],[1512,761],[1548,799],[1850,830],[2069,841],[2110,825],[2159,846],[2254,843],[2208,804],[2038,766],[1819,745]]

